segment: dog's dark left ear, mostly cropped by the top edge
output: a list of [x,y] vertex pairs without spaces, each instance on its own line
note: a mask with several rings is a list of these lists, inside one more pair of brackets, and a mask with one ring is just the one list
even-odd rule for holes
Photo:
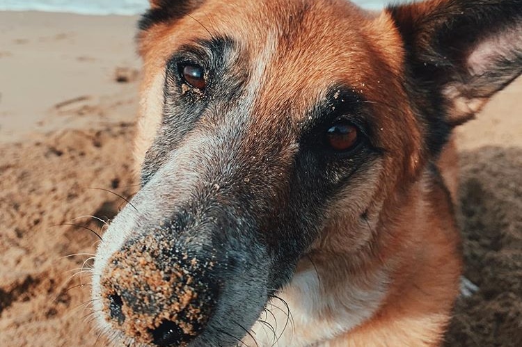
[[139,29],[146,31],[154,24],[180,19],[204,2],[205,0],[149,0],[150,9],[141,16]]

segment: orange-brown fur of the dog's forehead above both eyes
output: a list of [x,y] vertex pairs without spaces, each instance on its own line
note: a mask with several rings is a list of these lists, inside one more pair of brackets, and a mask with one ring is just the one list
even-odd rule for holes
[[292,115],[302,118],[337,86],[381,100],[381,87],[394,90],[402,66],[391,20],[345,0],[207,0],[143,37],[145,62],[158,73],[177,47],[231,38],[258,88],[256,104],[265,108],[259,115],[290,102]]

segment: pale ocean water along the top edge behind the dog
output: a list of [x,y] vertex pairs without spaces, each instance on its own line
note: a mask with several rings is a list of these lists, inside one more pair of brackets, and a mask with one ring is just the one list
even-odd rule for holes
[[[352,1],[365,8],[375,9],[393,0]],[[143,13],[147,7],[148,0],[0,0],[0,10],[38,10],[82,15],[136,15]]]

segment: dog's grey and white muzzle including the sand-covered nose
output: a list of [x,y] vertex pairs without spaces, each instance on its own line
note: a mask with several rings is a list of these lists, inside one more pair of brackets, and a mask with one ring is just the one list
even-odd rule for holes
[[218,159],[173,153],[104,234],[93,277],[97,320],[128,343],[234,346],[277,286],[253,217],[262,204],[227,183],[237,172],[227,175]]

